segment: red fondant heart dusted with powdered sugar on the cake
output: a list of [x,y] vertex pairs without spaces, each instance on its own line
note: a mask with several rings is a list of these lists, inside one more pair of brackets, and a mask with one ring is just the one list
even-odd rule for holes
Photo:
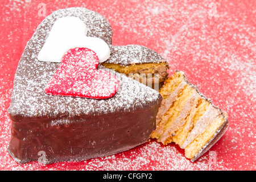
[[98,56],[88,48],[72,48],[46,86],[47,94],[86,98],[109,98],[119,81],[109,72],[97,70]]

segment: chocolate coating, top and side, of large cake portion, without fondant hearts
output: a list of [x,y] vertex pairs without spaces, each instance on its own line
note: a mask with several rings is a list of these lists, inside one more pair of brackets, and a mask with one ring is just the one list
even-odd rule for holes
[[[162,96],[155,90],[102,65],[112,72],[119,89],[112,98],[96,100],[52,96],[44,88],[59,63],[38,61],[53,23],[64,16],[81,18],[90,36],[111,44],[112,30],[101,15],[84,8],[57,10],[38,26],[27,43],[14,78],[8,113],[12,120],[9,154],[18,163],[86,160],[129,150],[149,138]],[[103,27],[102,27],[103,26]]]

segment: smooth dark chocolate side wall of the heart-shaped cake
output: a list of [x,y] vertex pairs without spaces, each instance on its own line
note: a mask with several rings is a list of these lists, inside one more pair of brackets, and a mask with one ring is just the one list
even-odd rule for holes
[[39,151],[46,152],[46,164],[117,154],[147,141],[157,110],[158,105],[143,111],[65,116],[59,119],[69,124],[56,126],[52,118],[12,122],[8,150],[18,163],[38,160]]

